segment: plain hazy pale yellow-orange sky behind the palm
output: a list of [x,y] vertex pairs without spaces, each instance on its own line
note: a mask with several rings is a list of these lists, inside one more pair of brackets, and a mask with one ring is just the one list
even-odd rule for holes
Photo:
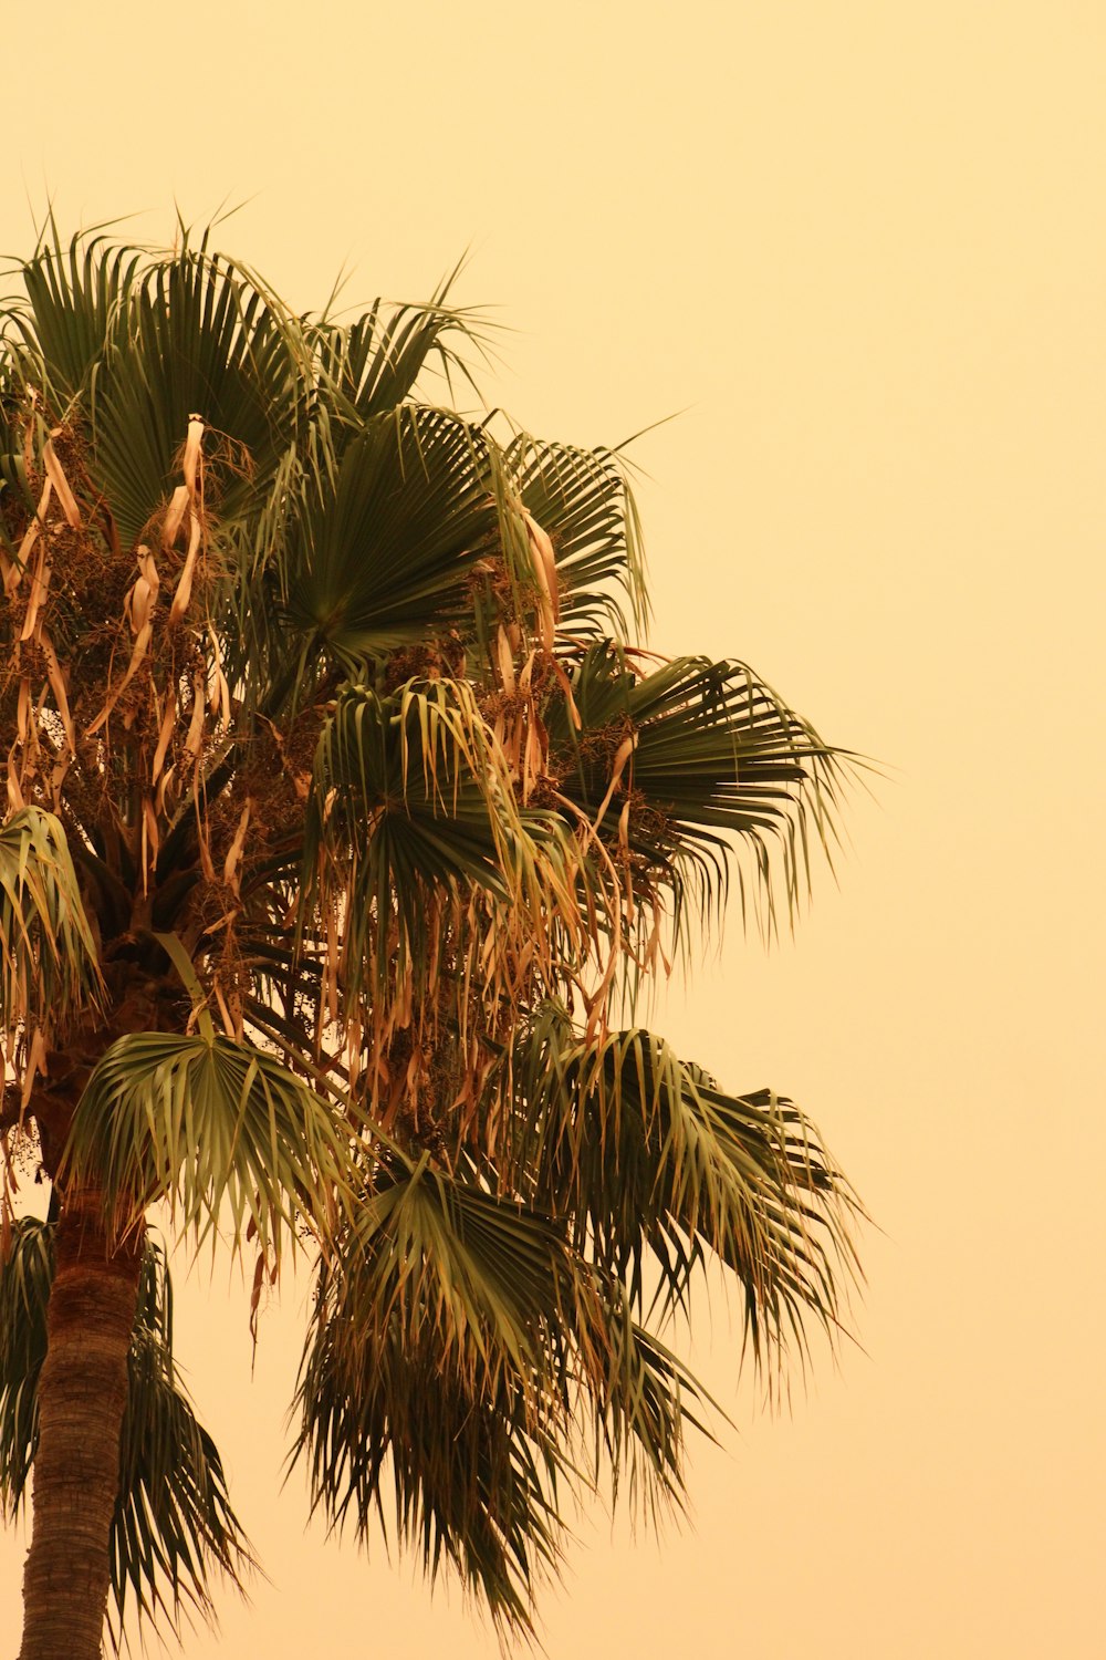
[[[837,885],[764,956],[738,920],[657,1024],[813,1112],[882,1232],[864,1350],[740,1433],[695,1531],[580,1521],[552,1660],[1091,1660],[1104,1534],[1099,696],[1106,13],[1093,0],[61,0],[5,20],[0,247],[245,209],[298,305],[456,297],[488,395],[633,448],[668,651],[736,654],[887,764]],[[295,1308],[179,1348],[270,1582],[216,1655],[496,1652],[456,1594],[277,1497]],[[0,1539],[0,1650],[23,1540]],[[441,1647],[438,1647],[441,1645]]]

